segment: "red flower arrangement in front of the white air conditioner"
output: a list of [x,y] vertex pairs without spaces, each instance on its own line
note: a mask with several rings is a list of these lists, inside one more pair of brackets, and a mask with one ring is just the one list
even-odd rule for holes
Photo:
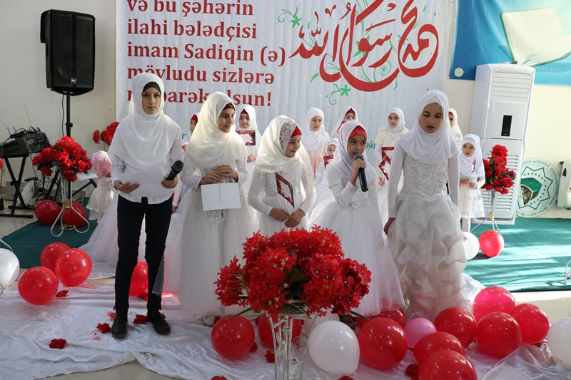
[[482,186],[485,190],[495,190],[502,194],[510,192],[515,180],[515,171],[506,167],[507,148],[503,145],[494,145],[492,154],[484,159],[486,182]]

